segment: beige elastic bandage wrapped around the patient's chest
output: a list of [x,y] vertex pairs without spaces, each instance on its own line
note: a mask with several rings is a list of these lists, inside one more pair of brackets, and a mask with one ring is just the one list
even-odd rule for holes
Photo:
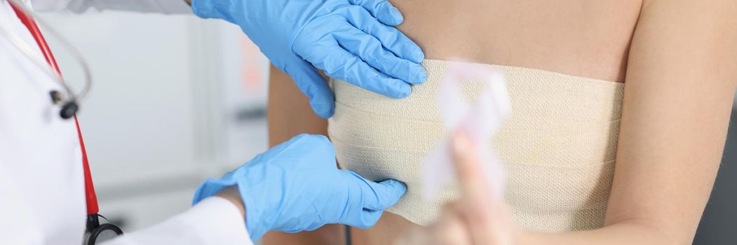
[[[335,116],[328,132],[338,163],[369,180],[396,179],[408,192],[388,211],[430,224],[446,202],[422,198],[422,163],[448,132],[437,95],[450,62],[425,60],[427,82],[405,99],[389,99],[334,79]],[[518,226],[558,232],[603,226],[614,174],[624,84],[503,65],[467,64],[503,74],[511,114],[487,147],[506,168],[505,198]],[[467,99],[485,83],[461,83]]]

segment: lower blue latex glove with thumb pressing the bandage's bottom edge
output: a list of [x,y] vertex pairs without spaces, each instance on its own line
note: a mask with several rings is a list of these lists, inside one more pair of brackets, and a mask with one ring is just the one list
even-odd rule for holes
[[407,191],[396,180],[377,183],[338,169],[335,149],[322,135],[298,135],[219,180],[207,180],[193,204],[230,185],[238,185],[253,241],[269,230],[299,232],[325,224],[368,228]]

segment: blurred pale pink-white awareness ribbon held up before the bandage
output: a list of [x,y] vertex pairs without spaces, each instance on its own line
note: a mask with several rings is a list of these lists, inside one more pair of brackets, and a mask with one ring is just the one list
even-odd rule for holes
[[[489,187],[495,194],[503,193],[504,171],[501,161],[486,143],[489,136],[501,127],[509,115],[510,102],[504,77],[488,68],[464,63],[450,63],[446,77],[439,88],[438,103],[447,132],[447,138],[425,160],[422,167],[422,194],[425,201],[437,197],[440,191],[453,179],[453,152],[450,148],[454,132],[464,129],[478,149],[477,159]],[[481,96],[474,104],[465,102],[461,93],[461,82],[469,79],[482,79],[485,82]]]

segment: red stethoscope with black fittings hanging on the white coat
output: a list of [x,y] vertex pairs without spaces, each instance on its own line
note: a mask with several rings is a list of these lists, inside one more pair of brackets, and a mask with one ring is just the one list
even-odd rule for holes
[[[21,22],[28,28],[28,31],[35,39],[36,44],[38,44],[38,48],[41,49],[41,53],[43,53],[43,57],[45,58],[46,63],[48,63],[53,71],[55,71],[55,76],[61,80],[61,71],[59,70],[59,66],[54,59],[54,55],[52,54],[51,49],[49,49],[48,43],[46,43],[43,35],[41,35],[41,30],[38,29],[38,25],[36,24],[35,19],[32,17],[32,14],[29,13],[27,8],[25,8],[24,6],[20,6],[20,4],[17,4],[15,1],[10,0],[8,2],[10,3],[10,7],[13,7],[13,11],[15,11],[15,14],[18,15],[18,18],[21,19]],[[123,232],[115,224],[100,224],[99,217],[102,216],[99,215],[99,208],[97,207],[97,195],[95,195],[94,185],[92,184],[92,175],[90,173],[89,163],[87,160],[85,143],[82,139],[82,131],[80,130],[80,124],[79,121],[77,121],[76,116],[77,110],[79,110],[77,97],[74,96],[74,94],[71,93],[71,90],[69,90],[69,88],[63,84],[63,80],[61,80],[60,82],[62,82],[64,88],[67,89],[67,93],[69,93],[69,98],[65,99],[63,98],[62,93],[52,91],[50,92],[52,102],[60,105],[60,116],[62,118],[68,119],[74,117],[74,124],[77,127],[77,136],[80,138],[80,146],[82,149],[82,166],[84,168],[85,176],[85,199],[87,202],[87,221],[85,239],[83,244],[96,244],[97,242],[106,241],[110,238],[122,235]],[[85,87],[85,92],[86,90],[88,90],[88,86]],[[102,218],[104,219],[105,217]]]

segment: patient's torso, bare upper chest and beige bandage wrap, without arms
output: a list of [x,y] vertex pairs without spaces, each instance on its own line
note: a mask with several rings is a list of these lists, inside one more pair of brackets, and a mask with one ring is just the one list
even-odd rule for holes
[[[438,60],[423,64],[430,69],[427,84],[415,86],[408,99],[334,81],[329,133],[340,164],[410,185],[408,197],[390,210],[399,215],[385,213],[371,229],[353,229],[353,244],[391,243],[413,222],[436,215],[440,203],[420,203],[416,188],[419,164],[443,133],[433,96],[444,67],[439,60],[454,58],[498,64],[488,67],[507,75],[513,114],[490,143],[506,160],[515,221],[530,230],[600,226],[624,86],[606,81],[624,82],[642,0],[391,2],[405,16],[399,29]],[[443,198],[454,195],[446,191]]]

